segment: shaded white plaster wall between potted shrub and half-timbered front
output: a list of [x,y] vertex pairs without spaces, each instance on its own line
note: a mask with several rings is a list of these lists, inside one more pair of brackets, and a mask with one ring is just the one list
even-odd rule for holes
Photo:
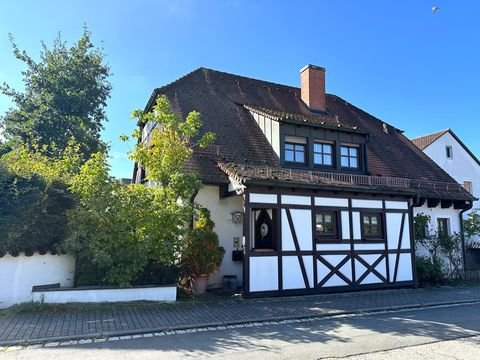
[[197,194],[195,201],[208,208],[213,222],[215,232],[218,234],[220,245],[225,249],[225,256],[220,266],[220,271],[210,275],[210,287],[223,287],[224,275],[236,275],[238,284],[242,284],[243,272],[242,262],[232,261],[233,238],[239,237],[242,243],[243,223],[234,224],[232,213],[240,211],[243,213],[242,196],[232,196],[220,199],[218,186],[206,185]]

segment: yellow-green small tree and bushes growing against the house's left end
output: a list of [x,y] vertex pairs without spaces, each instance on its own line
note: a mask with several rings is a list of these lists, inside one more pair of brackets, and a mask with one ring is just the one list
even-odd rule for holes
[[[70,182],[77,206],[69,214],[66,242],[66,249],[77,255],[77,271],[85,275],[77,283],[101,274],[100,282],[129,286],[151,262],[178,263],[194,209],[189,200],[201,185],[184,164],[193,147],[206,146],[214,136],[199,136],[200,114],[191,112],[182,121],[165,97],[152,112],[136,110],[133,117],[149,122],[153,130],[148,143],[137,143],[131,158],[158,186],[121,185],[108,176],[104,154],[85,162]],[[133,135],[141,136],[139,131]]]

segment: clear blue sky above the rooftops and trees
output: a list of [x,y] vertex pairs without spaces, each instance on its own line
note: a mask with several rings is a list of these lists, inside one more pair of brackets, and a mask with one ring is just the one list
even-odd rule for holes
[[[113,73],[103,138],[117,177],[132,174],[118,140],[131,110],[200,66],[293,86],[303,65],[325,66],[327,92],[409,137],[450,127],[480,155],[479,18],[475,0],[5,1],[0,81],[22,87],[9,32],[38,58],[42,40],[73,42],[86,23]],[[0,95],[0,113],[10,105]]]

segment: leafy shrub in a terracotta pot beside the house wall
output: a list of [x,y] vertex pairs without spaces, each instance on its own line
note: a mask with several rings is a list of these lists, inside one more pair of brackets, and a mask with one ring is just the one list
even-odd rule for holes
[[218,269],[225,254],[225,249],[219,245],[218,235],[213,231],[214,226],[210,211],[200,208],[193,229],[185,234],[182,265],[196,295],[206,291],[208,276]]

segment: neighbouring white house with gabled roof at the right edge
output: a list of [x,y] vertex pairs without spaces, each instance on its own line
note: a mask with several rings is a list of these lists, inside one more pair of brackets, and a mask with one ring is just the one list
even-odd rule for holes
[[[420,136],[412,142],[465,190],[480,198],[480,161],[451,129]],[[479,200],[474,201],[473,209],[480,209]]]

